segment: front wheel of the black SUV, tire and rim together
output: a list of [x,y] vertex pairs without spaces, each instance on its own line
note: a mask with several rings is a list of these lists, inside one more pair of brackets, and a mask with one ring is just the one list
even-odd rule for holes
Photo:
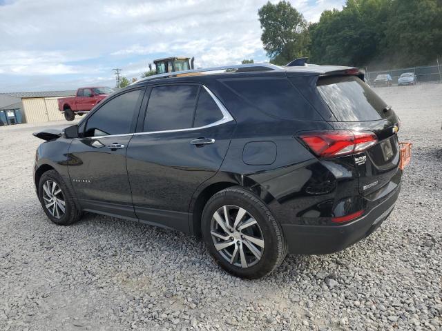
[[[53,186],[53,183],[55,183],[55,186]],[[59,193],[57,193],[58,190]],[[57,200],[54,200],[53,197],[56,197]],[[55,224],[70,225],[81,217],[81,210],[75,205],[73,194],[55,170],[49,170],[41,175],[39,200],[46,216]]]

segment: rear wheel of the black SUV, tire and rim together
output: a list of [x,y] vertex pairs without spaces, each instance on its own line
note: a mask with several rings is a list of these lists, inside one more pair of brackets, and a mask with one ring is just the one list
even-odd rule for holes
[[[229,224],[224,219],[224,207],[229,215]],[[232,229],[240,210],[245,211],[245,214],[241,212],[244,217],[240,218],[236,229]],[[253,223],[253,220],[256,222]],[[227,231],[223,230],[221,223]],[[201,230],[207,250],[215,262],[236,277],[264,277],[275,270],[287,255],[287,243],[278,221],[259,197],[241,187],[226,188],[207,201],[202,212]]]

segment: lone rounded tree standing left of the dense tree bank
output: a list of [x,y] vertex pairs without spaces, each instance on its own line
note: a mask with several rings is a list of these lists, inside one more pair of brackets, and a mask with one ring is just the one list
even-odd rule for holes
[[272,63],[287,64],[308,57],[308,23],[287,1],[267,2],[258,10],[261,41]]

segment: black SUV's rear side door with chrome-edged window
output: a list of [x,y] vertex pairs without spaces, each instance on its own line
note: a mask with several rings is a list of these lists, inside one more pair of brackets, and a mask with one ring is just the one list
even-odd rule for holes
[[193,192],[220,168],[235,121],[209,89],[181,84],[151,88],[139,123],[127,153],[135,213],[187,232]]

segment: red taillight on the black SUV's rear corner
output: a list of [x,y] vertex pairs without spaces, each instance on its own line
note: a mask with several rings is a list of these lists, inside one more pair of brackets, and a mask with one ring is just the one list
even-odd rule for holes
[[299,137],[318,157],[354,154],[367,150],[378,142],[373,132],[356,130],[302,132]]

